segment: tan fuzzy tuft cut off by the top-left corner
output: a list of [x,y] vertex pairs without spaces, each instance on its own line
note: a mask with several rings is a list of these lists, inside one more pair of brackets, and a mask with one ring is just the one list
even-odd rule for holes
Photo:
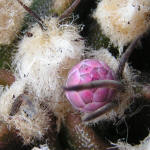
[[[32,0],[22,0],[30,6]],[[0,0],[0,44],[10,44],[21,27],[25,9],[17,0]]]

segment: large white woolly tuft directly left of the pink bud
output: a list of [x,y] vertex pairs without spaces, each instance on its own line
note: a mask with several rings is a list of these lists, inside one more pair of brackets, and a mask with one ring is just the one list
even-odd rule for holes
[[29,31],[33,36],[22,39],[13,64],[16,75],[26,80],[27,90],[48,99],[55,109],[57,103],[63,103],[62,86],[70,68],[81,59],[84,41],[71,24],[60,25],[57,18],[45,24],[46,31],[36,24]]

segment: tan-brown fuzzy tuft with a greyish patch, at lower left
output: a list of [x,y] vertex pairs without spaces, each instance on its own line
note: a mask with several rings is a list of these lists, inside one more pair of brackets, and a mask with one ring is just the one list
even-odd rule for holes
[[[30,97],[30,105],[25,102],[21,105],[19,112],[7,121],[9,127],[16,129],[17,134],[23,138],[24,144],[41,140],[51,129],[52,118],[47,110],[42,110],[39,101]],[[51,129],[52,130],[52,129]]]

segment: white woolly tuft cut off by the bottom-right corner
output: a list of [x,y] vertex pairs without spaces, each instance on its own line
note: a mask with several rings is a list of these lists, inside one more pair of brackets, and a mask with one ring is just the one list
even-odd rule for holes
[[113,145],[115,145],[118,150],[150,150],[150,135],[141,141],[139,145],[132,146],[122,142]]

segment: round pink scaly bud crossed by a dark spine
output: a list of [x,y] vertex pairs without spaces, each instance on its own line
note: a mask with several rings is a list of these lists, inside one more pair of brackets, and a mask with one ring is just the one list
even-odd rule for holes
[[[115,80],[115,75],[104,62],[86,59],[70,70],[66,86],[79,85],[94,80]],[[66,92],[70,103],[82,112],[92,112],[104,106],[111,101],[113,94],[114,90],[110,88]]]

